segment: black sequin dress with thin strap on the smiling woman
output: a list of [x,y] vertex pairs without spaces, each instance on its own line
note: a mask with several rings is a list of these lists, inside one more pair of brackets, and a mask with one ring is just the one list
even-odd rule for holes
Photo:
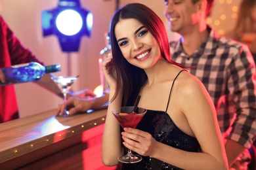
[[[181,72],[180,72],[181,73]],[[179,74],[177,75],[179,76]],[[176,78],[177,78],[176,76]],[[176,79],[175,78],[175,79]],[[174,84],[175,80],[173,81]],[[171,87],[171,90],[173,85]],[[169,98],[171,96],[171,91]],[[200,144],[198,140],[190,135],[187,135],[179,127],[177,127],[173,120],[171,120],[169,114],[167,114],[169,101],[165,111],[147,110],[146,114],[136,127],[142,131],[147,131],[161,143],[186,150],[189,152],[201,152]],[[171,154],[171,153],[170,153]],[[122,169],[129,170],[143,170],[143,169],[180,169],[163,161],[157,160],[150,156],[142,156],[142,161],[139,163],[123,163]]]

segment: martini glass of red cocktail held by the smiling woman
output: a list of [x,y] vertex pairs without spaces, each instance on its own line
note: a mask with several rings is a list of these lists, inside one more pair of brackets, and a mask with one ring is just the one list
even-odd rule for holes
[[[121,127],[135,128],[146,113],[146,109],[138,107],[135,112],[133,110],[134,107],[119,107],[117,109],[113,109],[112,113]],[[118,161],[122,163],[137,163],[141,160],[141,156],[132,154],[130,149],[128,149],[128,153],[126,155],[119,156],[118,158]]]

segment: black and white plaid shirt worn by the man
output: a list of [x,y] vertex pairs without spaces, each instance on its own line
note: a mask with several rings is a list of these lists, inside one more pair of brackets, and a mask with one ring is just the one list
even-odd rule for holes
[[170,42],[173,61],[189,69],[208,90],[217,110],[223,138],[251,147],[256,133],[255,63],[244,44],[219,37],[207,27],[209,37],[188,56],[181,41]]

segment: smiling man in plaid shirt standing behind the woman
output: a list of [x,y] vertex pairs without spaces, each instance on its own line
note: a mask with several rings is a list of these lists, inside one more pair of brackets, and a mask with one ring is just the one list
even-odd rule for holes
[[230,169],[247,169],[256,133],[255,63],[244,44],[219,37],[206,24],[213,0],[165,0],[173,61],[191,66],[207,88],[217,110]]

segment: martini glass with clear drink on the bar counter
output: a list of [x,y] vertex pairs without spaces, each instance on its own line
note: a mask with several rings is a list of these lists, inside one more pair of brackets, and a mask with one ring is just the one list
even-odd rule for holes
[[68,110],[66,109],[66,101],[67,101],[67,93],[70,90],[72,84],[75,82],[75,80],[78,78],[78,76],[54,76],[52,77],[53,81],[58,85],[58,88],[60,88],[61,92],[64,96],[64,114],[63,116],[66,118],[68,117]]

